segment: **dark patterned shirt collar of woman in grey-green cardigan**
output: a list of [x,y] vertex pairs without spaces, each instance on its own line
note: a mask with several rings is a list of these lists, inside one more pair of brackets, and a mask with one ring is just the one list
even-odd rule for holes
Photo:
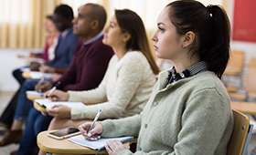
[[187,69],[180,73],[176,73],[176,68],[173,67],[168,76],[168,84],[174,83],[182,78],[193,77],[205,71],[208,71],[208,63],[206,61],[200,61],[191,67],[187,67]]

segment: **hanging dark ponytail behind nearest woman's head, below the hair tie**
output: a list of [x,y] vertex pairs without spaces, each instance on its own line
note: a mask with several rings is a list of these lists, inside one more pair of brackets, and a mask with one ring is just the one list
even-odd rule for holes
[[212,42],[211,48],[202,58],[208,61],[210,69],[221,78],[229,61],[229,18],[225,10],[218,5],[208,5],[207,8],[212,18]]

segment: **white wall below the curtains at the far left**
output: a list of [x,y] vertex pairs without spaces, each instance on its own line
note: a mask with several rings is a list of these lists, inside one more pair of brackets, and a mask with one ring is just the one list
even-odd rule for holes
[[0,48],[0,91],[15,91],[18,88],[12,71],[26,65],[17,55],[27,55],[28,51],[28,49]]

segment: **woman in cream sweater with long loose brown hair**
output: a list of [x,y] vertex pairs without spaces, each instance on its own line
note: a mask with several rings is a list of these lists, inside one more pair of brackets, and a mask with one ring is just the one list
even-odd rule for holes
[[108,69],[98,88],[87,91],[55,90],[48,96],[52,100],[81,101],[85,108],[56,105],[48,109],[53,116],[48,129],[78,127],[84,119],[125,118],[139,114],[155,85],[158,67],[151,54],[144,24],[131,10],[116,10],[109,26],[104,29],[103,44],[112,47]]

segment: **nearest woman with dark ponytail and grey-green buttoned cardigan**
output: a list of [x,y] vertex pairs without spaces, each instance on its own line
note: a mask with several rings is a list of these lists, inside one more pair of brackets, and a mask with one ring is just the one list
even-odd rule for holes
[[[138,136],[135,154],[227,153],[233,128],[229,96],[220,81],[229,60],[229,19],[218,5],[193,0],[170,3],[152,36],[156,56],[173,67],[159,74],[144,111],[126,119],[80,125],[84,136]],[[89,138],[89,139],[90,139]],[[120,141],[110,155],[132,154]]]

